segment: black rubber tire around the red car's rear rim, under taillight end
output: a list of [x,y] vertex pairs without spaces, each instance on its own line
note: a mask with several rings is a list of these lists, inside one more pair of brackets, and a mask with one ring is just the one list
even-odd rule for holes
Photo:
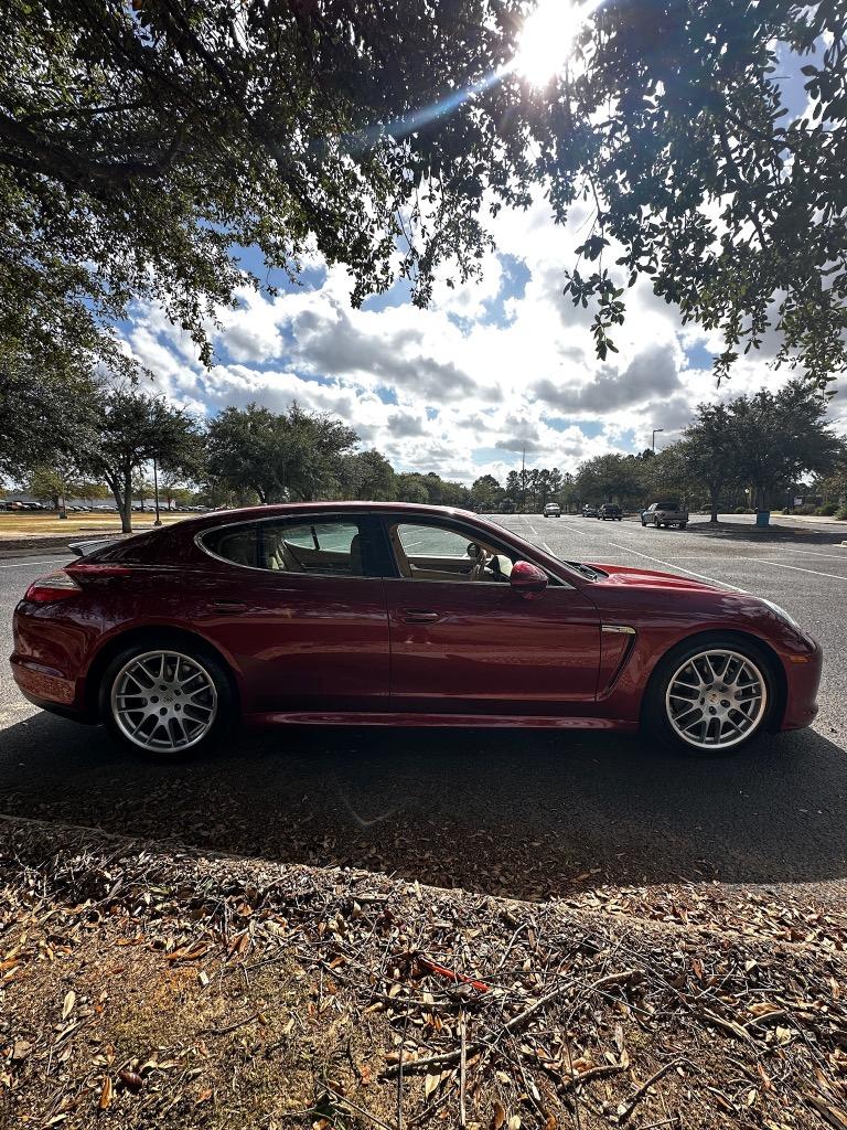
[[[187,664],[191,664],[202,671],[201,683],[204,677],[208,679],[210,688],[213,687],[213,694],[210,689],[208,699],[213,702],[215,707],[211,723],[208,724],[199,738],[191,740],[181,748],[156,748],[154,746],[142,745],[139,740],[133,740],[133,738],[126,732],[126,719],[124,719],[122,723],[116,715],[116,680],[121,678],[124,669],[131,664],[133,660],[137,661],[140,657],[156,655],[158,653],[167,653],[168,655],[180,657],[181,660],[185,660]],[[180,668],[177,667],[176,670],[178,671]],[[154,690],[157,688],[150,687],[150,689]],[[122,697],[126,696],[124,695]],[[140,694],[136,697],[139,701],[141,699]],[[163,696],[163,702],[164,701]],[[165,707],[163,707],[163,710],[164,709]],[[177,710],[181,707],[174,706],[173,709]],[[209,707],[204,706],[202,709],[206,710]],[[168,636],[163,634],[161,637],[157,638],[155,643],[146,640],[129,644],[112,659],[108,667],[103,672],[103,678],[101,679],[99,716],[108,730],[112,739],[124,749],[131,750],[136,756],[142,757],[146,760],[175,764],[189,760],[202,754],[207,754],[213,749],[220,739],[236,723],[238,716],[238,704],[230,672],[215,654],[215,652],[204,647],[200,642],[186,643],[184,638],[178,636]],[[156,733],[156,729],[152,730],[152,733]]]

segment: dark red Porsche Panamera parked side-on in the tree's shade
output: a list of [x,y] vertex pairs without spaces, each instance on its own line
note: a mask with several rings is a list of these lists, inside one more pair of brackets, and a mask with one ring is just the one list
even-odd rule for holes
[[646,725],[702,753],[807,725],[821,652],[748,593],[461,511],[316,503],[102,546],[29,586],[11,664],[30,702],[160,757],[237,719]]

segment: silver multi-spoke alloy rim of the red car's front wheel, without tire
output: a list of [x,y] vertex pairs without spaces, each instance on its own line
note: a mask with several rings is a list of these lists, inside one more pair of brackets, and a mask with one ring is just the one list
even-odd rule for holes
[[752,659],[723,647],[687,659],[665,693],[674,733],[697,749],[730,749],[751,737],[768,706],[768,685]]

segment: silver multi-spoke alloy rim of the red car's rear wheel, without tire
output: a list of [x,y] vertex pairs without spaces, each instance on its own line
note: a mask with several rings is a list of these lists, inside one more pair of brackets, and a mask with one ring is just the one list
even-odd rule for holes
[[218,692],[203,664],[178,651],[133,655],[115,676],[112,718],[134,746],[178,754],[215,724]]

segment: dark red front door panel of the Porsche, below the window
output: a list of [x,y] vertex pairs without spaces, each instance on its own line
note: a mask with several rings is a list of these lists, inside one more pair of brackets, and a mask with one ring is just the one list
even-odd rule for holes
[[[575,589],[385,581],[392,707],[573,713],[596,695],[600,618]],[[437,703],[434,702],[437,699]]]

